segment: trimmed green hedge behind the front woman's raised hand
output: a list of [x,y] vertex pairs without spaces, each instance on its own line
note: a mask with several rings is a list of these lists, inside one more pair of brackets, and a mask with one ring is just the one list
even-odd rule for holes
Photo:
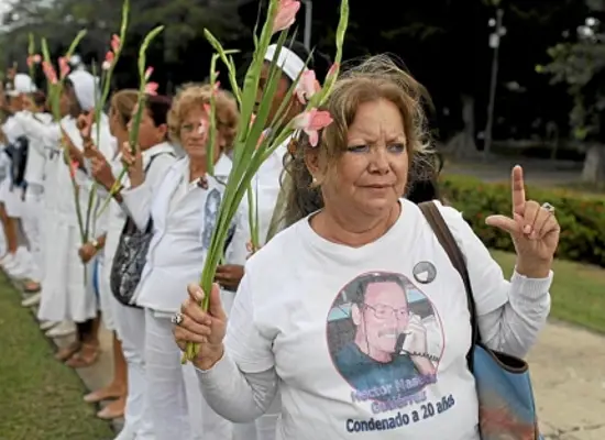
[[[485,224],[494,213],[509,215],[510,186],[486,184],[468,176],[444,176],[440,189],[448,204],[462,211],[464,219],[488,248],[513,252],[510,237]],[[561,239],[557,257],[605,267],[605,196],[584,195],[554,188],[528,187],[528,199],[548,201],[557,208]]]

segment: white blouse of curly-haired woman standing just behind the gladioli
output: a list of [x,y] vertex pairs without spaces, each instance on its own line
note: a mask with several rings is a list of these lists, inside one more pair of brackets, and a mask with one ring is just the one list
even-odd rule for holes
[[[189,182],[189,158],[176,162],[156,188],[136,187],[122,191],[123,202],[139,229],[153,219],[153,239],[141,283],[134,295],[138,305],[163,312],[176,312],[189,283],[199,280],[231,160],[221,156],[208,188]],[[226,250],[226,263],[243,265],[250,237],[248,212],[235,216],[232,239]]]

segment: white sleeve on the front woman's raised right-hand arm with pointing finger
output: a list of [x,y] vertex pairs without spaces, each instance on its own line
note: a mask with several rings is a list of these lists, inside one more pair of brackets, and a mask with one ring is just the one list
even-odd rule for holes
[[552,272],[539,279],[515,272],[510,280],[505,279],[462,215],[449,207],[440,211],[466,260],[482,341],[492,350],[524,358],[550,312]]

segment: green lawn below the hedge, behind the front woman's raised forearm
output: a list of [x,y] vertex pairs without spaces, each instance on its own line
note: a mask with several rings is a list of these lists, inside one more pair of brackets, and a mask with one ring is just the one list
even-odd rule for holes
[[[515,255],[492,251],[506,275],[513,273]],[[563,260],[554,262],[550,290],[550,316],[605,333],[605,270]]]

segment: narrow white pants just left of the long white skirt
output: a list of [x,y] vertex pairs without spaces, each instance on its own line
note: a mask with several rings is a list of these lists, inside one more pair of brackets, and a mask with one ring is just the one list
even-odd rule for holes
[[44,254],[43,254],[43,237],[42,237],[42,216],[44,211],[44,187],[42,185],[30,185],[25,193],[25,209],[23,212],[23,231],[30,244],[30,253],[32,254],[32,267],[30,278],[33,280],[42,280]]

